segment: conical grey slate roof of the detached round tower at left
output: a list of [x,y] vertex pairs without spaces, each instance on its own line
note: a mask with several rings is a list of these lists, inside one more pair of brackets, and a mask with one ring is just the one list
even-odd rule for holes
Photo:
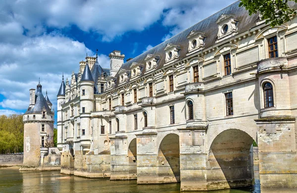
[[[41,85],[38,85],[38,86],[41,86]],[[43,109],[46,109],[48,114],[52,114],[51,110],[49,109],[48,102],[42,94],[42,90],[37,89],[36,93],[35,93],[35,105],[33,107],[29,106],[29,108],[25,112],[25,115],[26,114],[41,114]]]

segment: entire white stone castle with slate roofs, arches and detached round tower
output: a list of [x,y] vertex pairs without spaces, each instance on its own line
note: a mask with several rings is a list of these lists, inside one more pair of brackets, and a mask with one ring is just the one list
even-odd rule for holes
[[141,55],[109,58],[104,69],[87,55],[62,79],[57,147],[45,145],[49,97],[41,83],[30,90],[24,167],[227,189],[252,185],[254,143],[261,189],[297,189],[296,15],[271,27],[238,1]]

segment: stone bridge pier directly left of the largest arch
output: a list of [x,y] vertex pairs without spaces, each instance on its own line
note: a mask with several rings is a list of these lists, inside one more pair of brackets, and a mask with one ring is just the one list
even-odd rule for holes
[[206,129],[179,129],[181,191],[207,190]]

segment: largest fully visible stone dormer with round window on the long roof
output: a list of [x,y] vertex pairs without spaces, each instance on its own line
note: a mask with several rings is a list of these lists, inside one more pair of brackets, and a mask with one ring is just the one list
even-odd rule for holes
[[219,28],[216,43],[236,35],[238,20],[235,16],[234,14],[222,14],[216,20],[216,24],[218,24]]

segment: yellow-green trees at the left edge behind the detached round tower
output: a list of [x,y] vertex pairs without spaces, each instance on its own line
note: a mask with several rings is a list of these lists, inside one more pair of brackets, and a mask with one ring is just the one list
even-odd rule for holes
[[23,152],[24,124],[22,115],[0,115],[0,153]]

